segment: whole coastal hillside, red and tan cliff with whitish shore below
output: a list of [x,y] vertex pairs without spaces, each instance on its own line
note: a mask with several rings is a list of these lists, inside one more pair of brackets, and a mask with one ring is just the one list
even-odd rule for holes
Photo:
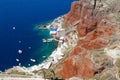
[[59,40],[58,51],[55,50],[62,59],[54,56],[59,62],[52,63],[55,60],[49,57],[47,61],[52,64],[48,69],[41,68],[41,64],[32,67],[32,71],[15,67],[3,75],[43,76],[50,80],[120,80],[119,3],[120,0],[73,2],[62,20],[53,22],[57,28],[53,37],[64,38]]

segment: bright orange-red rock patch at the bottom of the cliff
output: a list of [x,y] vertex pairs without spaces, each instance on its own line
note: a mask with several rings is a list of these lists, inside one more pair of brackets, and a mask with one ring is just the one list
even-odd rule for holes
[[93,63],[82,54],[82,57],[69,56],[63,62],[63,68],[59,72],[62,78],[84,77],[85,79],[93,77]]

